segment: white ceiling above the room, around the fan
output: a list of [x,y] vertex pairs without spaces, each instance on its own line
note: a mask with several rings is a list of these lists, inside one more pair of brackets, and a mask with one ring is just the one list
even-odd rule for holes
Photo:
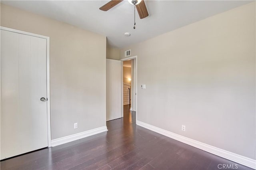
[[[108,45],[119,48],[142,42],[252,1],[146,0],[149,16],[140,20],[136,12],[136,30],[133,29],[134,7],[129,2],[121,2],[107,12],[99,10],[107,2],[1,0],[1,3],[105,35]],[[130,32],[131,36],[125,37],[124,32]]]

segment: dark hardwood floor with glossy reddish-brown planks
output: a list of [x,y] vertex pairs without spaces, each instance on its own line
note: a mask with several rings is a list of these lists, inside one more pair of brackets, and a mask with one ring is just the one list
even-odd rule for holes
[[250,169],[139,127],[135,117],[125,105],[124,118],[107,122],[108,132],[4,160],[1,170]]

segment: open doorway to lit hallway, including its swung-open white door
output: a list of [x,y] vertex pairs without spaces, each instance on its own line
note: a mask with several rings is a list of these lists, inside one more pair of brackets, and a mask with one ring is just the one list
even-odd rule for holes
[[[129,75],[124,75],[123,66],[130,60]],[[106,59],[106,121],[124,117],[124,105],[129,110],[137,109],[137,56],[121,60]],[[125,68],[125,69],[124,69]],[[125,82],[124,82],[125,80]],[[125,95],[124,95],[125,92]],[[136,114],[137,115],[137,114]]]

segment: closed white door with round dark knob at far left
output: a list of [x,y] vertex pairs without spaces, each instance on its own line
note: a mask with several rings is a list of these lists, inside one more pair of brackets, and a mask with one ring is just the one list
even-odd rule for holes
[[1,30],[1,97],[1,159],[47,147],[46,39]]

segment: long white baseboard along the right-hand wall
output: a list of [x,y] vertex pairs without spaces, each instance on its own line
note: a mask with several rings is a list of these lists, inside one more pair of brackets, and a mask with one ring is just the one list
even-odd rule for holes
[[245,156],[242,156],[242,155],[239,155],[239,154],[235,154],[235,153],[229,152],[227,150],[216,148],[214,146],[199,142],[197,140],[187,138],[185,136],[182,136],[182,135],[164,130],[162,128],[154,127],[152,125],[149,125],[147,123],[143,123],[141,121],[136,121],[136,124],[141,126],[141,127],[152,130],[154,132],[160,133],[160,134],[162,134],[164,136],[167,136],[169,138],[173,138],[173,139],[178,140],[180,142],[189,144],[190,146],[194,146],[194,147],[199,148],[201,150],[204,150],[206,152],[210,152],[212,154],[218,155],[222,158],[226,158],[228,160],[232,160],[234,162],[237,162],[238,164],[242,164],[244,166],[248,166],[250,168],[256,169],[256,160],[253,160],[251,158],[248,158],[248,157],[245,157]]

